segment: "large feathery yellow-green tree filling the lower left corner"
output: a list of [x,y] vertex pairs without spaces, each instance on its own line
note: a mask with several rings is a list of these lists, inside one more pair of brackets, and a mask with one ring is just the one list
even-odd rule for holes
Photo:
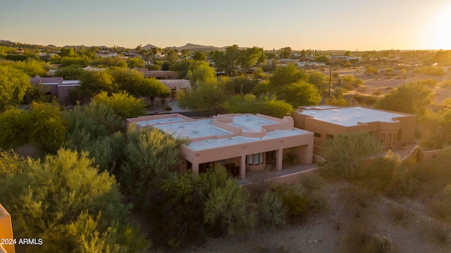
[[[94,245],[80,242],[92,237],[128,249],[123,252],[134,252],[135,243],[140,250],[149,245],[140,236],[123,240],[128,233],[137,235],[137,228],[124,225],[130,207],[123,204],[114,177],[99,173],[86,153],[61,149],[43,160],[27,160],[0,182],[2,205],[14,214],[14,235],[45,242],[33,252],[82,252]],[[87,214],[96,218],[85,222]]]

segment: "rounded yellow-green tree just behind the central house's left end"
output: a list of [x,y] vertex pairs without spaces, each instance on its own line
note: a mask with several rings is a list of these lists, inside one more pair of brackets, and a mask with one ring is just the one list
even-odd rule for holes
[[146,115],[147,103],[142,99],[128,95],[125,91],[113,93],[111,96],[106,91],[102,91],[94,96],[92,100],[98,104],[105,104],[123,120]]

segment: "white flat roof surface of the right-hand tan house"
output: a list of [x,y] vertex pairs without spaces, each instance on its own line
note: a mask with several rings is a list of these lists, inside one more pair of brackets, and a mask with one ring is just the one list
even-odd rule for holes
[[338,124],[340,126],[356,126],[357,122],[393,122],[393,118],[395,117],[407,117],[407,115],[395,112],[361,107],[336,108],[329,110],[302,110],[297,113],[314,117],[314,119],[323,122]]

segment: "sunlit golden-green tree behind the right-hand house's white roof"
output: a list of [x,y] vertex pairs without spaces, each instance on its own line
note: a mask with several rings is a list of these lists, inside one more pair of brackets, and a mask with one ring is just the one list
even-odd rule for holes
[[393,110],[395,112],[405,112],[415,114],[421,119],[431,104],[433,92],[431,88],[412,82],[403,84],[379,99],[375,107],[383,110]]

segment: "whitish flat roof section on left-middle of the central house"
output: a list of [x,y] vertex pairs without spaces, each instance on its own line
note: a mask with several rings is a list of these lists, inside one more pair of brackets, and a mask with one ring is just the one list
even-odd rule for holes
[[[162,119],[158,119],[157,121],[161,122]],[[140,122],[138,123],[140,124]],[[154,127],[161,129],[161,131],[164,131],[166,134],[171,134],[174,137],[187,137],[190,139],[233,134],[231,131],[214,126],[213,119],[199,119],[196,121],[180,123],[175,122],[173,124],[154,125]]]

